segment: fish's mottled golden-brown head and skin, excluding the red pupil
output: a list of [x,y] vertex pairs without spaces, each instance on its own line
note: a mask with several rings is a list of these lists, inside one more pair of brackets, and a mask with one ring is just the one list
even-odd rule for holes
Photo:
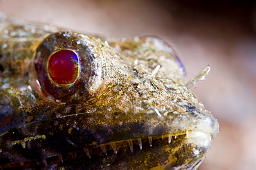
[[[0,21],[0,169],[199,167],[219,124],[165,41]],[[69,86],[46,69],[62,49],[80,59]]]

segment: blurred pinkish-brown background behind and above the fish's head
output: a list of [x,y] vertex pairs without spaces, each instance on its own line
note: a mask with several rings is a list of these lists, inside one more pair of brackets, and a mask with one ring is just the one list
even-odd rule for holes
[[0,11],[116,38],[160,36],[178,52],[190,78],[210,65],[195,93],[219,120],[220,132],[199,169],[255,169],[256,3],[0,0]]

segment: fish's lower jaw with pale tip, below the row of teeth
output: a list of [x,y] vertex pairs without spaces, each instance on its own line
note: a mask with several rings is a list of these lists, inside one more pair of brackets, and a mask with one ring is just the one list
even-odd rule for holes
[[187,131],[109,142],[42,160],[0,165],[23,169],[196,169],[205,157],[211,136]]

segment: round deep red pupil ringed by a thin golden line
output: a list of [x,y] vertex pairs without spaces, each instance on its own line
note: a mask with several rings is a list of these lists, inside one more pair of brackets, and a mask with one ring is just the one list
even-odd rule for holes
[[77,54],[71,50],[55,52],[48,61],[48,74],[57,84],[74,83],[78,74]]

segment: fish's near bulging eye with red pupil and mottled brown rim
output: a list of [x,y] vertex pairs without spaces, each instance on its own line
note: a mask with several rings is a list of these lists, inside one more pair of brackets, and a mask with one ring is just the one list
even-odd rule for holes
[[76,32],[47,36],[36,49],[32,73],[39,94],[58,103],[91,98],[102,85],[100,47],[100,40]]

